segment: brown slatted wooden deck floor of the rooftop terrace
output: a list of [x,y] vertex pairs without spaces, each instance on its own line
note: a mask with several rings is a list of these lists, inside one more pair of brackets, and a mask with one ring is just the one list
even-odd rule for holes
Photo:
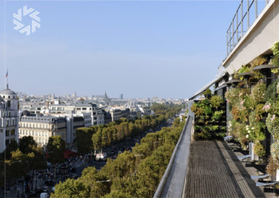
[[225,142],[199,141],[190,145],[185,197],[264,197],[264,194]]

